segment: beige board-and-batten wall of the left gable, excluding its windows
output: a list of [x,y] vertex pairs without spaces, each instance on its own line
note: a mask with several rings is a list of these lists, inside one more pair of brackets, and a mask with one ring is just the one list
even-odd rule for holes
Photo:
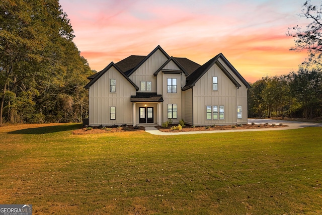
[[[116,92],[110,92],[110,80],[116,80]],[[89,125],[132,124],[131,95],[135,88],[111,67],[89,89]],[[116,119],[110,119],[110,107],[116,107]]]

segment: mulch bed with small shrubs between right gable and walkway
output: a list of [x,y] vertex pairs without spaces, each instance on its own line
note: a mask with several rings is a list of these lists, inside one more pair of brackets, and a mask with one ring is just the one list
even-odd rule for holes
[[177,124],[169,125],[167,128],[161,126],[155,126],[159,131],[163,132],[183,132],[183,131],[205,131],[205,130],[236,130],[236,129],[252,129],[252,128],[278,128],[287,127],[288,125],[269,125],[269,124],[239,124],[239,125],[216,125],[216,126],[190,126],[186,125],[182,130],[171,130],[172,126]]

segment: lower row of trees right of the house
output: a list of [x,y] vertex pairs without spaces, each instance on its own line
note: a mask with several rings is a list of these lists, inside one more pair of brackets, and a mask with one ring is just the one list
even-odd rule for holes
[[322,116],[322,72],[300,67],[288,75],[263,77],[248,92],[249,117]]

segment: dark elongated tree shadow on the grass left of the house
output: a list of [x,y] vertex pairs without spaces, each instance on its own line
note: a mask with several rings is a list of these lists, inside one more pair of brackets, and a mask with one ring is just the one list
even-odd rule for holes
[[59,131],[68,131],[82,128],[82,124],[70,124],[70,125],[54,125],[54,126],[44,126],[38,128],[26,128],[21,130],[15,130],[9,132],[11,134],[45,134],[54,133]]

